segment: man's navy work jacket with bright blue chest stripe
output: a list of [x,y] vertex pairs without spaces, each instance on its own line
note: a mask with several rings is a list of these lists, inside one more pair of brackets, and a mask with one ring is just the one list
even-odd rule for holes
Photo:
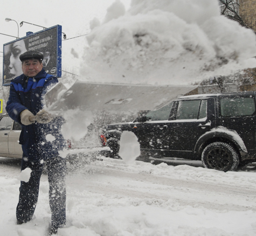
[[[36,115],[43,107],[43,96],[47,92],[47,88],[57,82],[58,79],[47,74],[44,69],[34,78],[27,78],[24,74],[16,77],[11,81],[6,112],[12,120],[22,124],[20,113],[27,109]],[[59,156],[59,150],[63,150],[65,146],[63,135],[60,132],[63,123],[63,118],[55,117],[47,124],[37,122],[29,126],[22,124],[19,143],[22,144],[24,155],[31,161],[41,161]]]

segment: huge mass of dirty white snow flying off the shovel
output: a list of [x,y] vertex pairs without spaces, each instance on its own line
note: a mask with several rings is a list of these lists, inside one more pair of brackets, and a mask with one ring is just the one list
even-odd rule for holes
[[255,34],[220,16],[217,0],[133,0],[128,12],[121,4],[91,22],[86,80],[188,85],[256,65]]

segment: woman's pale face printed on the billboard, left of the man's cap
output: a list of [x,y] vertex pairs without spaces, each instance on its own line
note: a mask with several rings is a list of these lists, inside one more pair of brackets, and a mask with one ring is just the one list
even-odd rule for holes
[[22,74],[22,62],[19,60],[19,55],[26,52],[24,40],[19,40],[13,43],[11,47],[11,57],[9,65],[9,73],[13,78]]

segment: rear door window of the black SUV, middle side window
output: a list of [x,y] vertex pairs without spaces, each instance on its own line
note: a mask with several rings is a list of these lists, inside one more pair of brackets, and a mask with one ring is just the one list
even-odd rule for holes
[[179,101],[176,120],[202,119],[207,116],[207,100]]

